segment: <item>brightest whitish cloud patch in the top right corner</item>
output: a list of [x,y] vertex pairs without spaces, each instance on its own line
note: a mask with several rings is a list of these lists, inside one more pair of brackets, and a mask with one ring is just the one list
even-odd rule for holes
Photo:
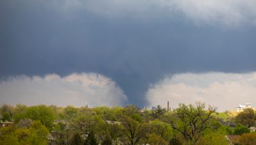
[[198,24],[240,27],[255,25],[254,0],[164,0]]

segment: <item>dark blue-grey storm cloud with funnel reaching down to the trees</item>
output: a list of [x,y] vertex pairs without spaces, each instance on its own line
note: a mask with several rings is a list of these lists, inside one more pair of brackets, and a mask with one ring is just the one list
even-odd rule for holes
[[253,26],[194,25],[179,13],[154,13],[152,6],[131,10],[139,16],[127,10],[120,17],[113,14],[120,10],[91,10],[93,4],[70,9],[72,2],[0,3],[2,78],[96,72],[116,81],[130,103],[143,106],[148,85],[165,74],[256,70]]

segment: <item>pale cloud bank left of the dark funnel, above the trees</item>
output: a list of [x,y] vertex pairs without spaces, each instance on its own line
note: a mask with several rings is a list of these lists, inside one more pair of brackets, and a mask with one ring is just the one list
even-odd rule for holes
[[100,74],[17,76],[0,82],[1,103],[57,106],[115,106],[127,97],[111,79]]

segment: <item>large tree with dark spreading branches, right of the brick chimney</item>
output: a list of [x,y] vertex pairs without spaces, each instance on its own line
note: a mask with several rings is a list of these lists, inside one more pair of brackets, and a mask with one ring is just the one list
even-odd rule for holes
[[205,109],[205,104],[200,102],[195,106],[189,104],[179,104],[179,107],[172,113],[171,125],[174,130],[180,132],[186,143],[196,144],[202,137],[203,132],[207,128],[211,128],[214,123],[212,113],[216,108],[209,106]]

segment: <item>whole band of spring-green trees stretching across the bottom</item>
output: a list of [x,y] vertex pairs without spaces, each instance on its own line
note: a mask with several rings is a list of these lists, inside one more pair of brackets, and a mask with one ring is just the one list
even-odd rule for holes
[[[179,104],[166,111],[126,107],[0,107],[0,144],[256,144],[255,111],[216,112],[204,103]],[[239,136],[238,136],[239,135]],[[234,142],[232,142],[234,143]]]

